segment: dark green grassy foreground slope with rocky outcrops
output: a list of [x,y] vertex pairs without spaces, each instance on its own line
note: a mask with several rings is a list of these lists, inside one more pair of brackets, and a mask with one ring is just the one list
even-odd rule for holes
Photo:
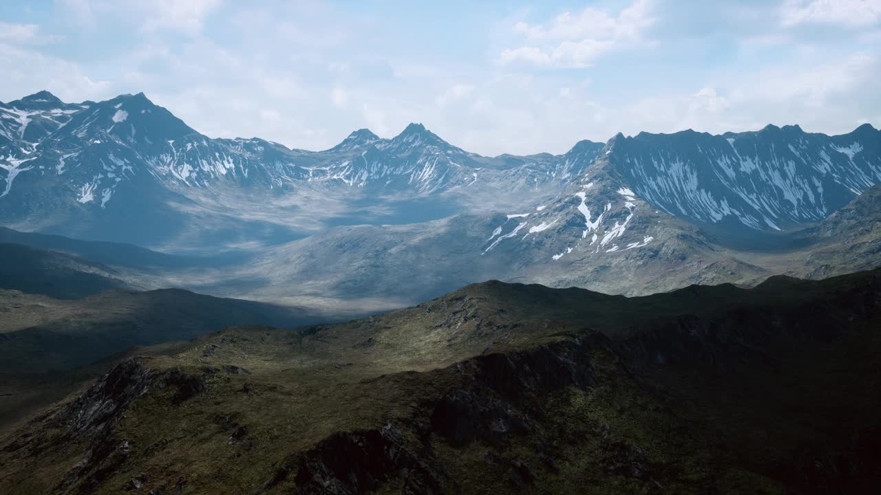
[[0,440],[9,493],[873,492],[881,272],[626,299],[472,284],[119,361]]

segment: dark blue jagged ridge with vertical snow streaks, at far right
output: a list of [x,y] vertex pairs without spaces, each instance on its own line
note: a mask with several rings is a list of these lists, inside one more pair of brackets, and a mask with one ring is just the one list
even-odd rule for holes
[[628,187],[671,215],[781,230],[821,220],[881,182],[879,150],[871,129],[829,137],[769,124],[722,136],[618,135],[603,155]]

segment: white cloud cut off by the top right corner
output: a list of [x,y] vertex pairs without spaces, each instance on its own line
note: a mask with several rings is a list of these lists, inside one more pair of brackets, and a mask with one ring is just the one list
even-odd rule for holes
[[787,0],[781,7],[783,26],[805,23],[870,26],[881,19],[881,0]]

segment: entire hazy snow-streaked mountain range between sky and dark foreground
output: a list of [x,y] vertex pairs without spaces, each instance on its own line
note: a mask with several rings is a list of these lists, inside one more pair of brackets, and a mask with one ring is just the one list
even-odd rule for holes
[[[0,103],[0,155],[7,227],[203,260],[149,277],[125,267],[143,288],[370,311],[487,278],[645,294],[879,262],[863,193],[881,183],[881,131],[869,124],[618,134],[484,157],[413,123],[305,151],[205,137],[143,93],[70,104],[38,92]],[[862,219],[829,225],[842,208]],[[823,268],[812,254],[840,229],[855,244]]]

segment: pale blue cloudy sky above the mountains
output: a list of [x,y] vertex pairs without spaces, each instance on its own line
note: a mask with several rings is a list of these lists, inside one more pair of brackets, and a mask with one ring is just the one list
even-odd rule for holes
[[421,122],[485,155],[618,132],[881,127],[881,0],[0,3],[0,100],[144,92],[322,150]]

